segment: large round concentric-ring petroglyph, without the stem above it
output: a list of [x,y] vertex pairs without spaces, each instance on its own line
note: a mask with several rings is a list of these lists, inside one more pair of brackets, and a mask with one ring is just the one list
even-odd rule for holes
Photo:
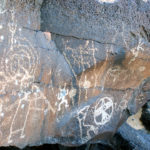
[[[17,41],[21,41],[17,39]],[[7,81],[27,81],[33,78],[38,64],[38,54],[25,39],[24,44],[16,43],[12,49],[5,49],[0,62],[2,72]],[[17,81],[17,82],[16,82]]]

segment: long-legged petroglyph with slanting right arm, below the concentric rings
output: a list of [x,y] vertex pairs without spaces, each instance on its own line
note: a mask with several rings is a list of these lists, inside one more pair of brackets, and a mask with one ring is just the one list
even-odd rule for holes
[[[30,91],[20,91],[18,93],[18,96],[19,96],[19,103],[18,103],[17,110],[14,114],[14,117],[12,119],[12,123],[10,126],[10,134],[8,137],[8,143],[13,142],[13,140],[11,138],[12,138],[13,134],[16,134],[18,132],[20,132],[20,138],[25,138],[24,130],[25,130],[27,120],[29,117],[29,113],[31,110],[41,111],[44,113],[51,111],[52,113],[55,113],[55,110],[52,108],[50,102],[47,100],[43,91],[41,91],[37,85],[33,85],[31,87]],[[41,106],[38,104],[40,101],[42,101]],[[45,107],[43,107],[43,105],[45,105],[45,104],[48,104],[48,107],[46,109],[45,109]],[[24,109],[24,107],[27,107],[27,110],[26,110],[26,116],[25,116],[24,120],[22,120],[23,126],[21,126],[20,129],[14,130],[15,125],[16,125],[15,121],[17,120],[18,115],[21,115],[21,114],[19,114],[19,110]]]

